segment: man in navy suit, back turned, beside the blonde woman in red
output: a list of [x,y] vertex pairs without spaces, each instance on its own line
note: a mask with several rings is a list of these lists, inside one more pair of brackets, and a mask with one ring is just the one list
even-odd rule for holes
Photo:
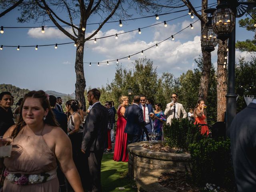
[[145,124],[139,104],[140,96],[134,96],[133,105],[128,106],[124,113],[124,117],[127,120],[124,129],[124,132],[127,133],[127,145],[140,141],[142,128]]

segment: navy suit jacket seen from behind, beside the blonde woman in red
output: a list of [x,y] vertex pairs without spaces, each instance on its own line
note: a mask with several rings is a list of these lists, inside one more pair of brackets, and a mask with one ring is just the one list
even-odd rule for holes
[[124,132],[131,135],[141,135],[142,126],[145,125],[142,109],[136,104],[130,105],[126,108],[124,117],[127,120]]

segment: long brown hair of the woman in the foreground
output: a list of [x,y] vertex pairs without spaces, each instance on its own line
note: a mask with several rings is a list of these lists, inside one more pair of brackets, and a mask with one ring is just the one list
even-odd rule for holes
[[40,91],[30,91],[27,94],[25,94],[24,99],[22,101],[22,104],[20,105],[20,116],[19,116],[19,120],[18,123],[16,124],[16,127],[14,128],[13,132],[12,132],[12,136],[15,138],[20,130],[26,125],[26,123],[24,122],[24,119],[22,118],[22,110],[23,110],[23,105],[24,102],[26,101],[27,98],[38,98],[41,102],[42,107],[44,108],[44,110],[49,109],[49,112],[46,116],[46,119],[44,120],[45,124],[48,124],[50,126],[59,126],[58,122],[56,121],[54,114],[51,110],[50,107],[50,102],[48,100],[48,96],[47,94],[40,90]]

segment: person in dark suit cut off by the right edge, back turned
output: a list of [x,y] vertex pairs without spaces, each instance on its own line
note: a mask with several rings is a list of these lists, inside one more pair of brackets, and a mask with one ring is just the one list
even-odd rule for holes
[[256,99],[230,126],[230,143],[238,192],[256,191]]

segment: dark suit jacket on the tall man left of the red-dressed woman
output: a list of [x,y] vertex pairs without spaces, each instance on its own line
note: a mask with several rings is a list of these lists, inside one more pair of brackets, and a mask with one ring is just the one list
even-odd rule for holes
[[108,109],[96,103],[84,123],[82,150],[85,152],[104,150],[108,140]]

